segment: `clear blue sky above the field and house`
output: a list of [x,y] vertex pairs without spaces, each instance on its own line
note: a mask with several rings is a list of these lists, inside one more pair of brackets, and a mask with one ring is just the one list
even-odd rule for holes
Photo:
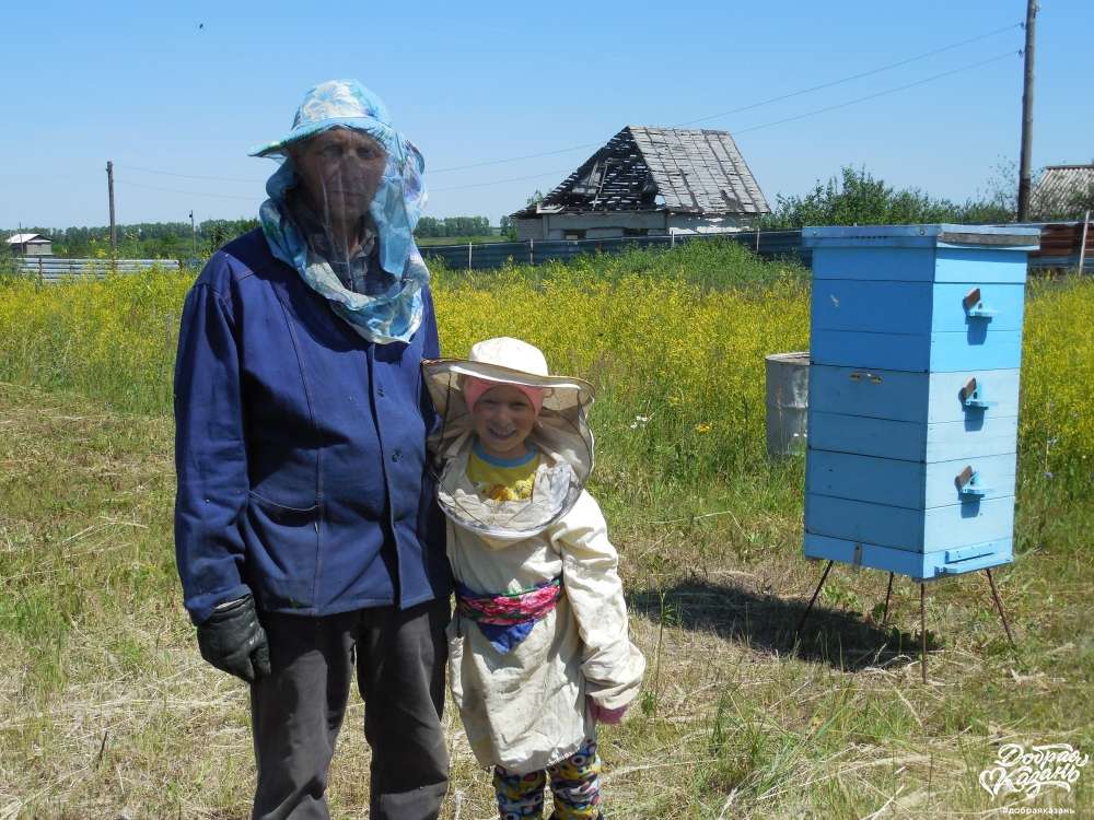
[[[626,125],[731,112],[1008,26],[695,127],[734,133],[772,204],[843,165],[965,199],[1019,156],[1025,0],[47,0],[20,14],[0,50],[4,227],[106,224],[107,160],[119,222],[253,215],[274,165],[247,150],[288,130],[310,86],[344,77],[381,94],[421,148],[427,214],[496,223]],[[1091,0],[1043,0],[1035,167],[1094,160],[1091,31]],[[476,163],[492,164],[449,171]]]

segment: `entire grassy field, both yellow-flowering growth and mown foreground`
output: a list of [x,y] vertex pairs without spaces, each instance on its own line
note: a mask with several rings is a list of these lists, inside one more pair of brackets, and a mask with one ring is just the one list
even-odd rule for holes
[[[0,283],[0,819],[244,818],[242,684],[205,665],[174,571],[170,372],[188,280]],[[1094,772],[1021,801],[979,785],[1001,743],[1094,750],[1094,284],[1029,288],[1016,552],[918,586],[801,558],[802,462],[764,454],[763,355],[807,343],[807,280],[735,247],[438,271],[445,352],[510,332],[592,379],[602,501],[649,659],[602,733],[613,818],[1094,816]],[[626,309],[620,309],[626,306]],[[644,420],[644,421],[642,421]],[[356,702],[331,772],[366,816]],[[487,820],[489,776],[446,714],[442,817]]]

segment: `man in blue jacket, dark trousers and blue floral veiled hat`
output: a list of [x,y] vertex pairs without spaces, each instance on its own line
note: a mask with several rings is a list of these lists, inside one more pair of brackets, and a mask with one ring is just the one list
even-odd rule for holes
[[450,575],[427,471],[423,163],[354,81],[307,93],[261,230],[209,260],[175,370],[175,543],[202,657],[251,684],[255,818],[326,818],[352,678],[371,817],[435,818]]

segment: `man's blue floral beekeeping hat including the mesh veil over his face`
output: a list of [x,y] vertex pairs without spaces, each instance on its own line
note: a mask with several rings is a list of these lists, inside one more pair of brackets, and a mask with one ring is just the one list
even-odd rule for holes
[[[251,152],[281,162],[266,184],[263,233],[334,312],[370,341],[407,342],[421,324],[429,271],[414,242],[426,203],[424,160],[356,80],[311,89],[292,128]],[[307,208],[293,207],[306,202]],[[346,225],[361,239],[351,255]],[[354,276],[361,274],[361,282]]]

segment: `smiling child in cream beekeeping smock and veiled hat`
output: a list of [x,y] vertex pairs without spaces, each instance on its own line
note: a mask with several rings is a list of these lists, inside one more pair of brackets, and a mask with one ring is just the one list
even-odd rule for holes
[[456,578],[452,693],[502,820],[598,818],[596,723],[618,723],[645,660],[627,636],[618,557],[584,483],[592,387],[548,375],[538,349],[488,339],[423,365],[443,419],[441,466]]

